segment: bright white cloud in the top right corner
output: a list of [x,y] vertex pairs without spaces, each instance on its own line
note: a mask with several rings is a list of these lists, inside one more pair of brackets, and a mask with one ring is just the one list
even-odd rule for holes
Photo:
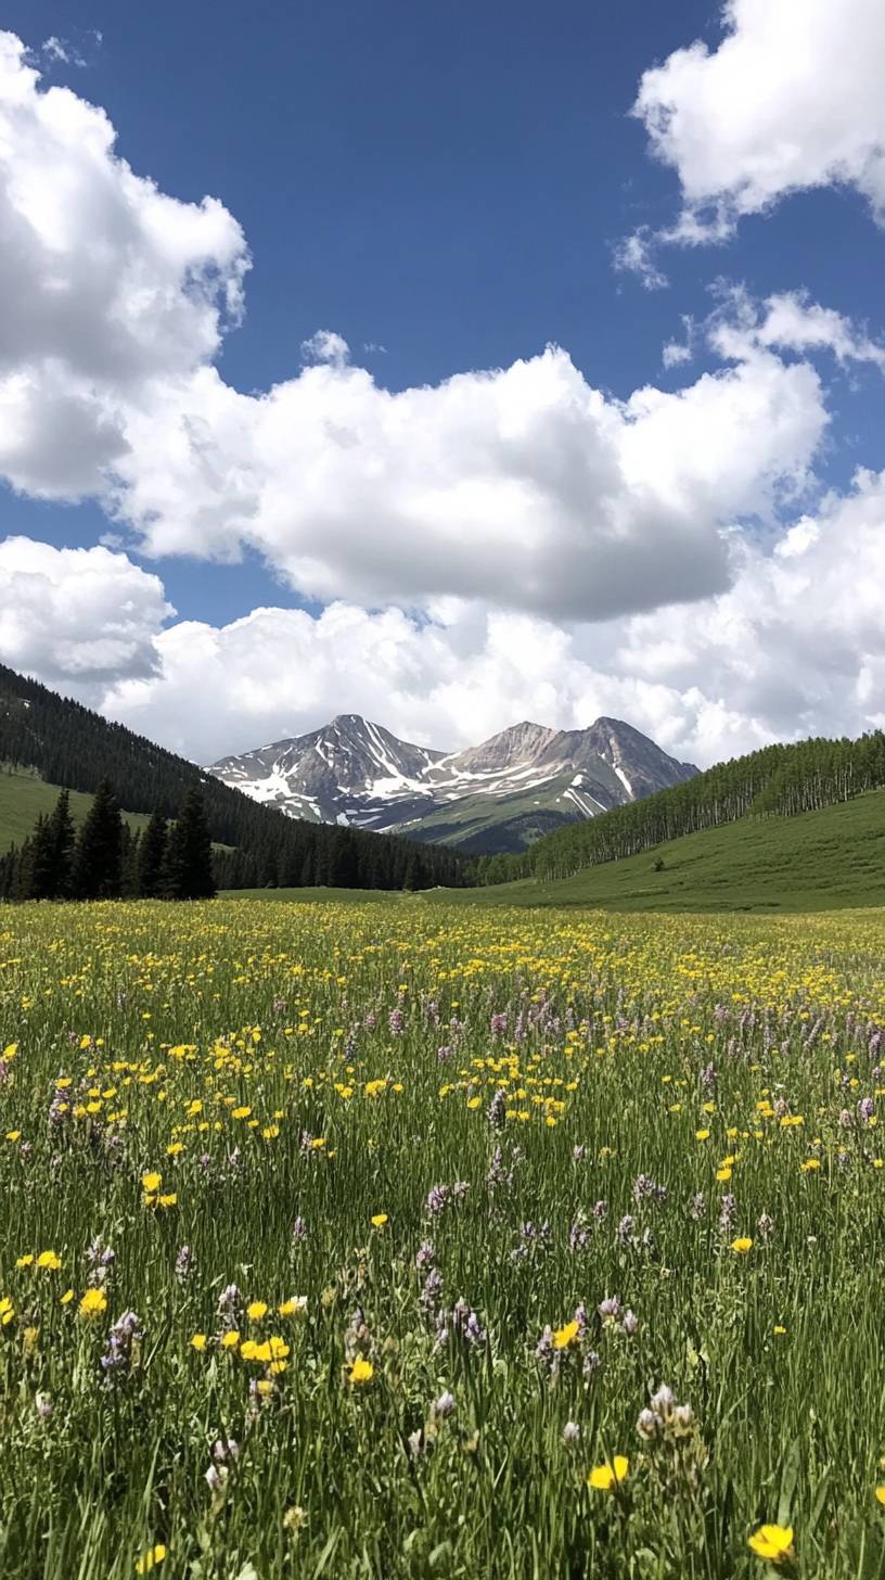
[[683,190],[665,240],[721,240],[789,193],[847,185],[885,223],[882,0],[727,0],[724,38],[643,73],[634,114]]

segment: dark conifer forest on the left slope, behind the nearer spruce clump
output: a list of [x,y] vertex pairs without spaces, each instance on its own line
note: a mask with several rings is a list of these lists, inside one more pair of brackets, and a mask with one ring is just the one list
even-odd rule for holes
[[47,784],[95,795],[114,785],[126,812],[177,817],[191,787],[202,793],[217,845],[218,888],[329,885],[341,888],[457,888],[471,864],[442,845],[286,817],[250,801],[153,741],[111,724],[81,703],[0,665],[0,763],[35,769]]

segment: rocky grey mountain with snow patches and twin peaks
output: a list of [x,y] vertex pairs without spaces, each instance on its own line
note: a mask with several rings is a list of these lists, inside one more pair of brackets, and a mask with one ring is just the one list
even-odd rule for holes
[[345,713],[209,771],[291,817],[493,852],[520,850],[558,823],[596,817],[697,768],[620,719],[586,730],[523,722],[480,746],[438,752]]

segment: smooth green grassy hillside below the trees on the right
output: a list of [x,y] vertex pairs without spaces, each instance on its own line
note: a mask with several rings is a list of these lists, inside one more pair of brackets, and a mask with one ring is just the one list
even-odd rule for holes
[[[661,872],[654,863],[664,861]],[[604,910],[804,912],[885,904],[885,790],[796,817],[752,817],[544,883],[435,890],[424,902]]]

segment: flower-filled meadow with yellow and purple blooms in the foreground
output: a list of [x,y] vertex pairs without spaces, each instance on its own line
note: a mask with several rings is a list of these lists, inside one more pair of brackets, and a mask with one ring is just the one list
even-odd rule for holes
[[885,913],[0,913],[5,1580],[885,1575]]

